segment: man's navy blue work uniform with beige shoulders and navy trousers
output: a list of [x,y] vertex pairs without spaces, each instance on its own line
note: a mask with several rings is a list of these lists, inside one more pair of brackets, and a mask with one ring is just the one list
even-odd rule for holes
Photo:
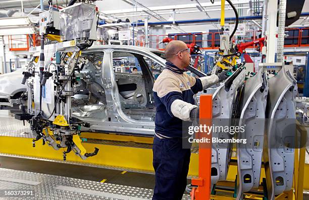
[[166,68],[153,86],[157,113],[152,147],[156,186],[152,199],[182,198],[187,184],[191,152],[189,148],[183,148],[184,121],[173,115],[171,105],[176,99],[194,105],[193,95],[202,89],[199,79],[188,76],[171,62],[166,62]]

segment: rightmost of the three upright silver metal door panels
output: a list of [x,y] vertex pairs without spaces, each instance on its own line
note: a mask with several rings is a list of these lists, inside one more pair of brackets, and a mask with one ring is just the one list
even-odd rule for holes
[[269,79],[268,127],[263,153],[269,199],[288,190],[293,182],[295,100],[293,81],[282,70]]

